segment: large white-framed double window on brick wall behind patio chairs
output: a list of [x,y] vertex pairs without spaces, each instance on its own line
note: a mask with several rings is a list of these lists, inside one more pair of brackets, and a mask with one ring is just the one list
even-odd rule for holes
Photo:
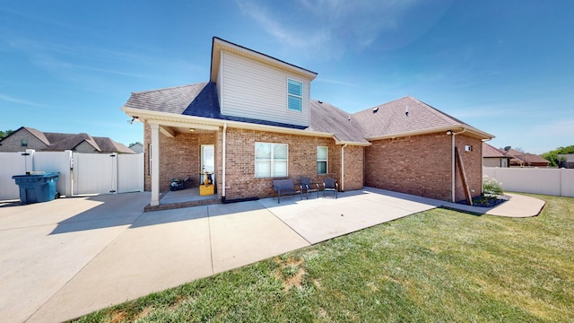
[[286,177],[289,145],[255,143],[255,177]]

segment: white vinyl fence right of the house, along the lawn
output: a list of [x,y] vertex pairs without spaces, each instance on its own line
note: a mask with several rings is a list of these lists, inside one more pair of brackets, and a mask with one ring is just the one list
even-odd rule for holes
[[574,197],[574,170],[484,167],[483,175],[502,182],[505,191]]

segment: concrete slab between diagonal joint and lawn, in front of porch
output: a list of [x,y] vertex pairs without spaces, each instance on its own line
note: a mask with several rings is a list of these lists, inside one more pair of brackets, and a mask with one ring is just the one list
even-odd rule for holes
[[143,214],[28,322],[72,319],[213,275],[206,206]]

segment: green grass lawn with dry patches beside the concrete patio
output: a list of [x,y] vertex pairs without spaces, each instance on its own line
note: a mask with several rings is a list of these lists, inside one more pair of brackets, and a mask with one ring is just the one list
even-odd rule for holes
[[574,198],[533,218],[446,209],[100,310],[80,322],[574,322]]

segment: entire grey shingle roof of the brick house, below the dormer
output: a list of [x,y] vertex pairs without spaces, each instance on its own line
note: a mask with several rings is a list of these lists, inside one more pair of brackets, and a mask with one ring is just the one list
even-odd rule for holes
[[[341,142],[369,144],[367,139],[402,135],[435,128],[468,126],[413,97],[404,97],[350,114],[329,103],[309,100],[310,125],[300,127],[255,118],[222,115],[215,83],[133,92],[125,107],[178,115],[247,122],[258,125],[306,129],[334,134]],[[408,116],[405,110],[408,107]]]

